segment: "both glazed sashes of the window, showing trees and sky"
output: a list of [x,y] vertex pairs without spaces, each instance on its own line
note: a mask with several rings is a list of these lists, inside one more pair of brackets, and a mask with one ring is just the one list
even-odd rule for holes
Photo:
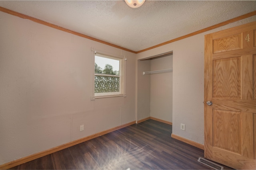
[[95,54],[95,96],[120,94],[120,59]]

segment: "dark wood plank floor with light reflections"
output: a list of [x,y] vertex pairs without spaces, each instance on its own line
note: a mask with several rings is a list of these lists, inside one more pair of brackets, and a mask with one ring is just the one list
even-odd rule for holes
[[203,150],[171,133],[171,125],[147,120],[11,169],[210,169],[197,162]]

